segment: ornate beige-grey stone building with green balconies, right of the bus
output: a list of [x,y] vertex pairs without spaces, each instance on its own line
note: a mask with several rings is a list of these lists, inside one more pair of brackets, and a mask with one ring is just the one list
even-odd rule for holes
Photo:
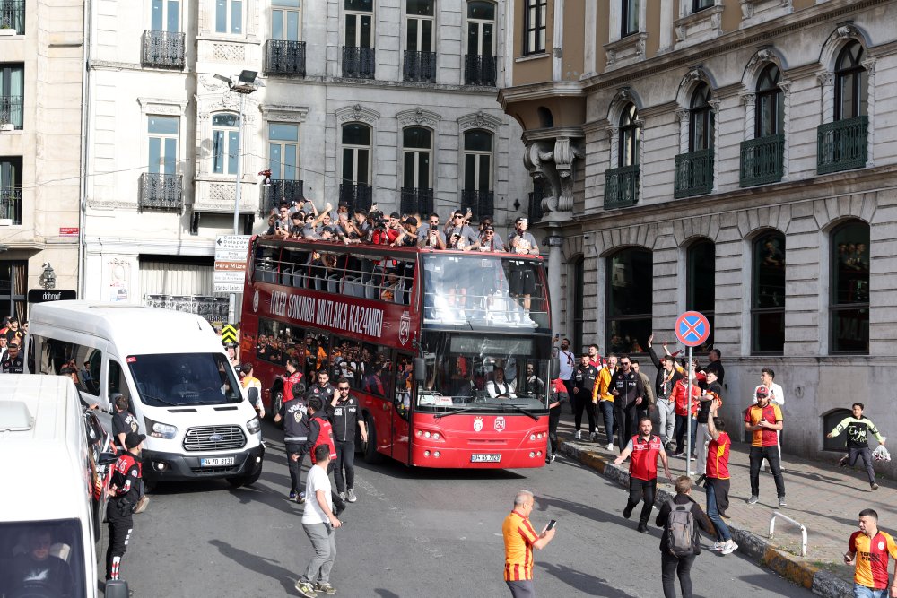
[[823,433],[856,400],[897,430],[897,3],[520,0],[513,14],[500,98],[544,197],[559,332],[641,353],[698,309],[730,420],[767,367],[788,452],[837,455],[843,438]]

